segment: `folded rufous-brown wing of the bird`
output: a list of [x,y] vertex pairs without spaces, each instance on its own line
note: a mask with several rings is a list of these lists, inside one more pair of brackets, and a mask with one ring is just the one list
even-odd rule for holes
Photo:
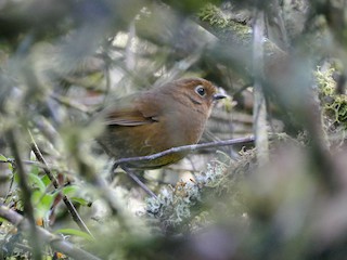
[[158,121],[157,99],[151,94],[129,96],[110,109],[105,123],[108,126],[141,126]]

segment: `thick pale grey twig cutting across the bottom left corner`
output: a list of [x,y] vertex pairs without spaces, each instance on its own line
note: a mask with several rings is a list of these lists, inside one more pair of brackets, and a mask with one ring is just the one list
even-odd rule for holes
[[[17,212],[9,209],[8,207],[0,205],[0,217],[11,222],[13,225],[18,226],[18,229],[24,232],[30,233],[30,222],[26,218],[23,218]],[[49,244],[55,250],[77,260],[100,260],[100,258],[87,252],[80,248],[75,247],[73,244],[64,240],[61,236],[53,235],[47,230],[37,226],[37,233],[41,237],[42,243]],[[36,237],[37,238],[37,237]],[[30,237],[29,240],[38,243],[36,238]]]

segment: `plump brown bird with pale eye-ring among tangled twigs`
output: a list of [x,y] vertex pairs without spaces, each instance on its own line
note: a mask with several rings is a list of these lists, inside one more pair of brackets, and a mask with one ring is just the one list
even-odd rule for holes
[[[216,100],[226,98],[202,78],[187,78],[134,93],[105,108],[106,129],[99,139],[110,156],[145,156],[200,141]],[[155,169],[185,156],[175,153],[128,168]]]

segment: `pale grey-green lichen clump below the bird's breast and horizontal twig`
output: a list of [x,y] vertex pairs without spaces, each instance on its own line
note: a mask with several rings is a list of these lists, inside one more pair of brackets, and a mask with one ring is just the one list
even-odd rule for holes
[[[195,174],[195,180],[179,182],[175,187],[167,186],[158,194],[158,199],[146,202],[147,220],[155,219],[166,232],[198,230],[216,218],[242,216],[243,196],[239,181],[254,165],[254,151],[241,152],[241,158],[231,164],[226,157],[207,166],[207,170]],[[157,226],[157,225],[156,225]]]

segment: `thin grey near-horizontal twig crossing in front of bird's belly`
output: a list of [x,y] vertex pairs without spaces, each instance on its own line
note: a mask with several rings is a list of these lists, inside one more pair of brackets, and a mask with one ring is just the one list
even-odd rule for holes
[[121,165],[126,165],[128,162],[154,160],[154,159],[157,159],[162,156],[174,154],[174,153],[192,152],[192,151],[198,151],[198,150],[204,150],[204,148],[213,148],[213,147],[229,146],[229,145],[234,145],[234,144],[252,143],[252,142],[254,142],[254,140],[255,140],[254,136],[248,136],[248,138],[231,139],[231,140],[216,141],[216,142],[203,143],[203,144],[183,145],[183,146],[179,146],[179,147],[172,147],[172,148],[169,148],[169,150],[166,150],[160,153],[153,154],[153,155],[117,159],[114,162],[114,165],[121,166]]

